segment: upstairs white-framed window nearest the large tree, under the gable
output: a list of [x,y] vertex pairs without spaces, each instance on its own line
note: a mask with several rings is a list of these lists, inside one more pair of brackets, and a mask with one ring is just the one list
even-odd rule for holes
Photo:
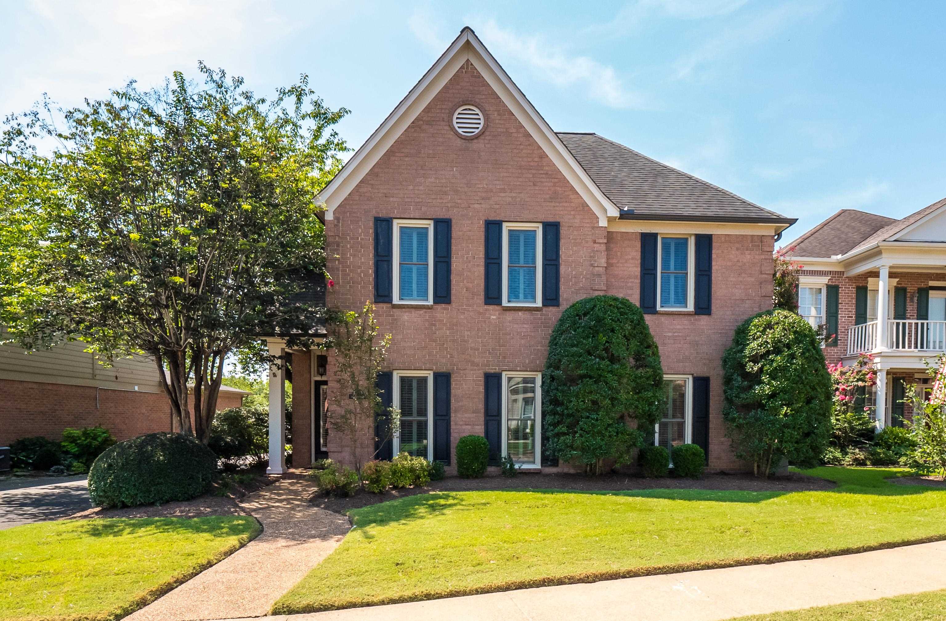
[[433,301],[433,222],[394,220],[394,302]]

